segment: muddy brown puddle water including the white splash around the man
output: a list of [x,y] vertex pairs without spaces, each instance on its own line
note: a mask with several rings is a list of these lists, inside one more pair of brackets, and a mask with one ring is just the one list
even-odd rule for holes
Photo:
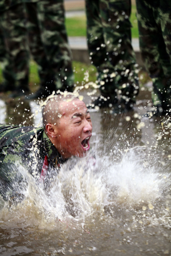
[[[94,165],[71,160],[48,194],[29,177],[22,203],[1,199],[0,255],[171,255],[171,120],[147,110],[144,94],[132,112],[91,112]],[[38,104],[1,99],[0,123],[41,125]]]

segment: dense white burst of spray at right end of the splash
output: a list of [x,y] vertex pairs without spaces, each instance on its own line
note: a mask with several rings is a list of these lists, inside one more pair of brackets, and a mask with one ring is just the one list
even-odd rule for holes
[[161,174],[162,171],[157,164],[148,163],[136,155],[135,150],[125,152],[121,161],[113,164],[107,174],[106,183],[115,187],[111,195],[115,204],[134,207],[161,197],[169,182],[169,174]]

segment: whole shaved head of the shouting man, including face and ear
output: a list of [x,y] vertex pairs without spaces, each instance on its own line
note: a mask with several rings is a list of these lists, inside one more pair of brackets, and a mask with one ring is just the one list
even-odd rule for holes
[[83,157],[90,149],[92,123],[78,94],[61,92],[43,102],[44,132],[62,158]]

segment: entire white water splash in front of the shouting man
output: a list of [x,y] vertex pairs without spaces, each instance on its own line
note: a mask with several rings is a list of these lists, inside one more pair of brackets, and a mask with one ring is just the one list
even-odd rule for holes
[[27,182],[27,186],[22,187],[25,199],[11,207],[1,200],[0,220],[41,228],[48,223],[53,226],[59,220],[84,223],[87,218],[104,214],[105,208],[111,205],[115,210],[137,207],[149,210],[156,200],[169,195],[168,170],[155,164],[155,159],[148,163],[142,157],[143,151],[137,154],[137,150],[130,148],[117,162],[112,162],[109,156],[99,156],[97,151],[95,154],[96,160],[90,158],[90,154],[82,159],[73,157],[58,175],[50,172],[47,177],[50,185],[35,179],[25,168],[19,168],[18,172]]

